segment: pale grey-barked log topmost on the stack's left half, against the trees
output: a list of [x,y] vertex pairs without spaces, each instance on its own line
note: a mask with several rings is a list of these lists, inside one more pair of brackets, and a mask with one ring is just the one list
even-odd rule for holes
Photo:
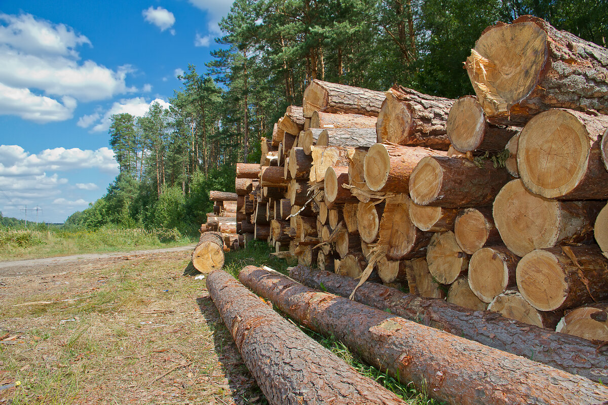
[[348,112],[377,117],[384,101],[383,92],[315,79],[304,90],[304,116],[314,111]]

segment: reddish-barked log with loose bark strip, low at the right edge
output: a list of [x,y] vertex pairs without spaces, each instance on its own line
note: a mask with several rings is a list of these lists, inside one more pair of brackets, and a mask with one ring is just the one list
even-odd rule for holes
[[541,311],[608,298],[608,260],[596,246],[533,250],[517,264],[517,288]]

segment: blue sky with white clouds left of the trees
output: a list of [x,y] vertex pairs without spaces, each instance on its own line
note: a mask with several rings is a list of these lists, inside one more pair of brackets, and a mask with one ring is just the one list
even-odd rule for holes
[[[117,174],[109,117],[168,105],[232,0],[0,2],[0,211],[63,222]],[[28,212],[28,219],[35,213]]]

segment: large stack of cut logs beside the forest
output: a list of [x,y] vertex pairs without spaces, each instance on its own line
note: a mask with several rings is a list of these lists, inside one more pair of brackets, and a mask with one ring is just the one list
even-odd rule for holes
[[[506,78],[505,54],[527,58]],[[593,80],[556,83],[572,60]],[[477,41],[476,95],[313,80],[260,165],[237,168],[239,233],[302,265],[608,340],[607,60],[527,16]]]

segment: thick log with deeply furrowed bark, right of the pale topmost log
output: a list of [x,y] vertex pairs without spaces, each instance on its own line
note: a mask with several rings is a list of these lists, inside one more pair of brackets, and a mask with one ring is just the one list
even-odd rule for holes
[[447,151],[450,146],[446,135],[447,114],[454,101],[393,86],[386,92],[378,115],[378,142]]

